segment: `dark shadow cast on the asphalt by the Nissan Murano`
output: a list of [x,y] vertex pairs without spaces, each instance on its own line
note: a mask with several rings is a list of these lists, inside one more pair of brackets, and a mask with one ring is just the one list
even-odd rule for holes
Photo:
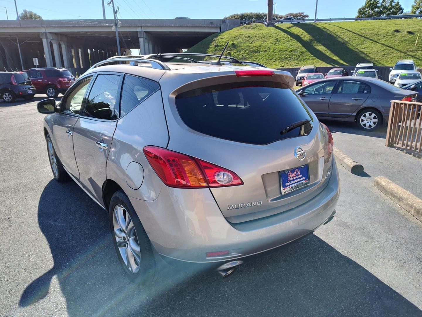
[[38,224],[54,265],[22,293],[19,305],[27,315],[38,312],[43,298],[61,297],[57,291],[47,297],[57,276],[70,316],[422,316],[414,304],[314,234],[242,265],[227,279],[168,267],[153,286],[141,289],[120,268],[106,211],[76,183],[51,180],[46,185]]

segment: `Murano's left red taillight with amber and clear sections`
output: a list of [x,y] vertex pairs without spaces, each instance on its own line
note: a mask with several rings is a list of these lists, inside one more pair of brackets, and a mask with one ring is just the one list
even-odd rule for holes
[[170,187],[204,188],[242,185],[238,175],[192,156],[157,146],[146,146],[143,153],[158,177]]

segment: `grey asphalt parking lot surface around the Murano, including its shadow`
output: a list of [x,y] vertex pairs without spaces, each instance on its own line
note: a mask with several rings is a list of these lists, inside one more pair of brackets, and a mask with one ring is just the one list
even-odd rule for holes
[[[39,100],[0,102],[0,316],[422,316],[422,224],[373,187],[386,168],[368,152],[395,159],[390,178],[421,163],[382,148],[382,130],[327,122],[336,146],[372,165],[338,167],[337,214],[314,234],[224,280],[168,268],[141,290],[119,266],[106,212],[53,179]],[[415,175],[398,183],[419,196]]]

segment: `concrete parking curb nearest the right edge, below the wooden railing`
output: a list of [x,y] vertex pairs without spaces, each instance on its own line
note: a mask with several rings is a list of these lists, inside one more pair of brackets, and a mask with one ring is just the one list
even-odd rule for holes
[[409,193],[406,189],[401,188],[384,176],[378,176],[375,178],[373,186],[378,188],[386,196],[390,197],[397,205],[422,222],[422,199],[419,199],[414,194]]

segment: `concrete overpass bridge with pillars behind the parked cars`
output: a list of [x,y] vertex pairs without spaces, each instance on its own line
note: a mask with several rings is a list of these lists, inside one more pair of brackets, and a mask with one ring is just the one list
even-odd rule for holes
[[0,20],[0,69],[65,67],[81,74],[100,60],[115,55],[181,52],[211,34],[240,25],[238,19],[120,19],[120,51],[114,19],[93,20]]

